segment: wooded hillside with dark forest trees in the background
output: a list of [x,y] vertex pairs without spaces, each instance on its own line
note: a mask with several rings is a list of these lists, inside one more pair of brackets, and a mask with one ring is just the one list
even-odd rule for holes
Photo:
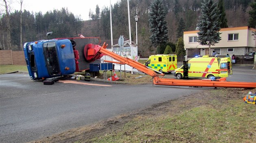
[[[6,0],[4,0],[5,2]],[[138,15],[138,51],[142,56],[148,56],[149,51],[156,51],[156,45],[150,42],[150,12],[154,0],[130,0],[130,19],[132,40],[136,41],[136,27],[133,16]],[[195,30],[200,15],[202,14],[203,0],[160,0],[163,9],[166,10],[165,21],[167,27],[167,43],[163,44],[165,51],[167,45],[176,45],[178,38],[183,37],[183,31]],[[220,0],[223,3],[217,5],[220,13],[226,15],[228,27],[247,26],[250,19],[249,11],[252,11],[252,2],[255,0]],[[219,2],[219,0],[213,0]],[[0,8],[0,49],[22,50],[20,47],[20,15],[22,15],[22,43],[46,39],[46,33],[53,31],[52,38],[100,37],[102,40],[111,39],[110,8],[95,6],[95,10],[89,13],[90,20],[82,21],[74,16],[68,8],[48,11],[47,13],[31,13],[26,10],[16,10],[10,13],[4,3]],[[250,6],[251,5],[251,6]],[[21,13],[22,12],[22,13]],[[112,5],[113,39],[124,35],[129,37],[127,0],[119,0]],[[251,13],[253,13],[252,11]],[[222,14],[223,15],[223,14]],[[225,17],[221,17],[225,21]],[[251,19],[250,21],[255,21]],[[8,27],[8,23],[10,26]],[[10,34],[10,41],[8,40]],[[108,43],[111,44],[111,43]],[[171,46],[173,48],[173,46]],[[175,48],[173,49],[175,52]]]

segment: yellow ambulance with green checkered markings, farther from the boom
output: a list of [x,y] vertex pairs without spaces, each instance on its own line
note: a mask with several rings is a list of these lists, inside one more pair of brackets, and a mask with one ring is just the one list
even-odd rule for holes
[[171,72],[177,68],[177,55],[151,55],[144,65],[161,73]]

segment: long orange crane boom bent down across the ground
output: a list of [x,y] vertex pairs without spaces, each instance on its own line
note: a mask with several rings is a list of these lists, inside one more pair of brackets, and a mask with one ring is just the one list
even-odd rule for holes
[[[153,83],[155,85],[167,85],[167,86],[200,86],[200,87],[229,87],[229,88],[256,88],[256,82],[229,82],[226,81],[226,78],[220,78],[216,81],[212,80],[176,80],[176,79],[169,79],[169,78],[163,78],[165,74],[157,74],[156,71],[153,71],[152,69],[149,69],[147,66],[134,61],[130,58],[124,58],[120,55],[117,55],[109,50],[106,50],[105,43],[102,47],[99,49],[95,49],[93,52],[95,55],[95,58],[100,54],[107,55],[117,61],[119,61],[120,64],[127,64],[131,67],[148,74],[153,77]],[[110,62],[110,61],[108,61]],[[161,76],[161,78],[160,78]]]

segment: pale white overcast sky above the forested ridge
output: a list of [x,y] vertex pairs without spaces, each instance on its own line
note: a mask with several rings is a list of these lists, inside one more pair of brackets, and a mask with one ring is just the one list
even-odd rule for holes
[[[20,4],[17,1],[20,0],[13,0],[11,4],[13,11],[20,10]],[[110,7],[110,1],[113,6],[119,0],[24,0],[22,9],[34,13],[41,11],[45,14],[47,11],[53,11],[54,9],[61,10],[64,7],[74,15],[81,15],[81,19],[89,20],[88,15],[90,9],[95,13],[95,8],[98,4],[101,11],[102,7]]]

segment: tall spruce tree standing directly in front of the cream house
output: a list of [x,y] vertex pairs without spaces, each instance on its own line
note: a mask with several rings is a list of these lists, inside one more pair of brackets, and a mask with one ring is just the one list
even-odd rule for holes
[[199,29],[199,32],[197,32],[197,42],[201,45],[208,45],[208,55],[210,55],[210,46],[215,45],[215,43],[221,40],[219,36],[219,10],[217,9],[216,3],[213,3],[213,0],[204,0],[201,9],[202,14],[197,24]]

